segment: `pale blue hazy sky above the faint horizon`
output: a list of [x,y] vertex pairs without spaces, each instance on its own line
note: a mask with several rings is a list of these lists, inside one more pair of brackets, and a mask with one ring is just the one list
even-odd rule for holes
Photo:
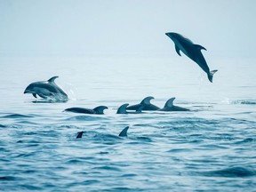
[[0,57],[165,54],[174,31],[255,59],[255,19],[255,0],[0,0]]

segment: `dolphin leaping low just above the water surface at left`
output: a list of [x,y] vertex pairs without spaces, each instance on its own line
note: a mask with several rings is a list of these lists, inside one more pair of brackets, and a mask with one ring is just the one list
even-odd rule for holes
[[35,98],[37,98],[36,95],[39,95],[41,98],[48,100],[68,101],[68,95],[54,82],[58,77],[59,76],[52,76],[48,81],[39,81],[29,84],[24,94],[32,93]]

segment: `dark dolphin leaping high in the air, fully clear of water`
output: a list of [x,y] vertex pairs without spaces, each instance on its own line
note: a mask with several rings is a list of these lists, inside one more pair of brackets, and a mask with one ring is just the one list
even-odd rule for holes
[[165,33],[165,35],[169,36],[174,42],[176,52],[180,55],[181,50],[181,52],[187,55],[188,58],[194,60],[197,63],[197,65],[199,65],[199,67],[202,68],[204,72],[207,74],[209,81],[212,82],[213,74],[216,73],[218,70],[210,71],[210,68],[208,67],[206,61],[204,60],[204,56],[201,52],[202,49],[205,51],[206,49],[202,45],[193,44],[191,40],[184,36],[181,36],[180,34],[170,32]]

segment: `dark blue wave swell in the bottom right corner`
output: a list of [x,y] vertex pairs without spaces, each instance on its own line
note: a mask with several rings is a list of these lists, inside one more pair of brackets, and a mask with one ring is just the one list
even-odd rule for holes
[[229,167],[226,169],[218,170],[218,171],[211,171],[211,172],[204,172],[204,176],[208,177],[252,177],[256,175],[256,172],[252,169],[246,169],[241,166],[236,167]]

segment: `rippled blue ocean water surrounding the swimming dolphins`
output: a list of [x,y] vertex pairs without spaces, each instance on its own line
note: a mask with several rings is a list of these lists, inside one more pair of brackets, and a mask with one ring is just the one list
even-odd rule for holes
[[[185,57],[1,58],[0,191],[256,191],[255,60],[210,61],[213,84]],[[68,102],[23,94],[52,76]],[[149,95],[190,111],[116,115]]]

